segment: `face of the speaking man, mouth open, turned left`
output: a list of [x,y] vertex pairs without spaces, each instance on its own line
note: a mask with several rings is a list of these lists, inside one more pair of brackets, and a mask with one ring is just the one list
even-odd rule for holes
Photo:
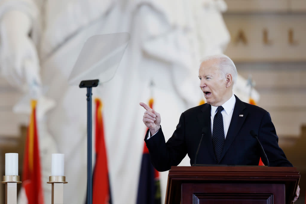
[[212,106],[221,106],[228,98],[226,94],[229,88],[226,88],[226,77],[219,70],[217,60],[208,60],[202,62],[199,69],[199,78],[201,80],[200,88],[203,91],[206,102]]

